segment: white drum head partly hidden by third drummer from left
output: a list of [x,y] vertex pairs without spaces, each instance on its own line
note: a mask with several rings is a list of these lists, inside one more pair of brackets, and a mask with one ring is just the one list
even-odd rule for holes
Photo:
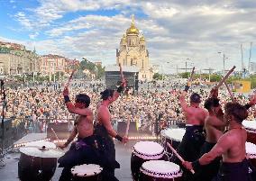
[[167,129],[161,131],[163,137],[168,138],[169,140],[176,140],[181,142],[186,130],[185,129]]

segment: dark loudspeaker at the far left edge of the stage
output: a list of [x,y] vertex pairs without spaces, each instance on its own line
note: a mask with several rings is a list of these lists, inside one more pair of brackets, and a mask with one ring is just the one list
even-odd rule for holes
[[[3,139],[3,128],[2,128],[2,118],[0,118],[0,143]],[[12,146],[14,144],[14,134],[12,128],[13,119],[4,120],[4,149]]]

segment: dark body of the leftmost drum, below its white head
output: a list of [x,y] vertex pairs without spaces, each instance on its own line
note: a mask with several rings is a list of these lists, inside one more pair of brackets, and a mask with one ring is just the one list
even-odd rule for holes
[[57,158],[32,157],[21,153],[18,175],[21,181],[50,181],[57,167]]

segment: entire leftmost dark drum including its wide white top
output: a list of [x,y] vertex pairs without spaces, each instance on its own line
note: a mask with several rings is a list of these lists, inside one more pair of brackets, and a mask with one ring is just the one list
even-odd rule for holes
[[[20,148],[18,175],[21,181],[49,181],[64,153],[48,141],[34,141]],[[55,148],[53,148],[55,147]]]

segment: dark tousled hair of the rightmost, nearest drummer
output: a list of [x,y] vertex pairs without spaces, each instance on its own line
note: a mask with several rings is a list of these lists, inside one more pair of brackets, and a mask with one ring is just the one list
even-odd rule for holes
[[239,123],[242,123],[248,116],[247,109],[238,103],[225,104],[224,111],[228,115],[233,115],[235,121]]

